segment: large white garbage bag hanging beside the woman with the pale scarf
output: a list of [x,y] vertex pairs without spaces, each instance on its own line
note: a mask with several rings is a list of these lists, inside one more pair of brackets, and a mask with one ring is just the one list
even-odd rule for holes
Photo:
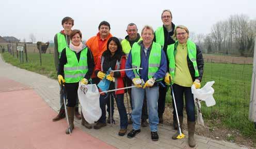
[[82,107],[85,120],[92,124],[101,118],[100,94],[96,84],[82,84],[79,82],[78,99]]

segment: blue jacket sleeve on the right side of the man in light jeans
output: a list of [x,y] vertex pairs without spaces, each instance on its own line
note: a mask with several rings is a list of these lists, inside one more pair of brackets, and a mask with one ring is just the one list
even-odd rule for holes
[[166,68],[167,68],[166,56],[165,56],[164,50],[162,49],[161,50],[161,63],[160,63],[158,71],[154,74],[154,78],[156,80],[164,78],[165,73],[166,73]]

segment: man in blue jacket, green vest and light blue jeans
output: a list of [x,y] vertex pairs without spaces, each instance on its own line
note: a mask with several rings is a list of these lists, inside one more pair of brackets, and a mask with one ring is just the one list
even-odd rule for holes
[[[126,71],[127,77],[130,78],[133,81],[133,85],[136,86],[132,88],[133,129],[127,134],[127,137],[133,138],[136,134],[140,133],[141,109],[144,96],[146,95],[151,139],[157,141],[157,124],[159,122],[157,112],[159,85],[157,82],[161,82],[165,77],[167,62],[161,45],[153,42],[154,30],[152,27],[143,27],[141,37],[142,41],[133,44],[125,66],[126,69],[136,67],[143,68],[142,70]],[[146,83],[143,84],[142,80]]]

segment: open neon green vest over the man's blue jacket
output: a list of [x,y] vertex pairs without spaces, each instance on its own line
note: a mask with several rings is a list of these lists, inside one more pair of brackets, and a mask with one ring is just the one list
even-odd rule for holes
[[[155,72],[158,71],[160,63],[161,63],[161,45],[153,42],[150,55],[149,55],[149,71],[148,71],[148,78],[152,78]],[[134,43],[132,48],[132,66],[133,68],[140,67],[140,44]],[[135,77],[139,78],[138,69],[133,70]],[[159,80],[163,80],[159,79]],[[158,81],[158,80],[157,80]]]

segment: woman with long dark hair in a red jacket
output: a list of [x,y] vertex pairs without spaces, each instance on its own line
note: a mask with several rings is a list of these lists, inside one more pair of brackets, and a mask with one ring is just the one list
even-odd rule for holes
[[[116,37],[111,37],[107,42],[107,50],[102,53],[102,56],[99,57],[97,64],[95,66],[95,74],[100,79],[103,79],[106,76],[107,70],[111,67],[112,70],[125,69],[125,53],[122,51],[122,46]],[[125,71],[115,71],[110,72],[106,79],[111,81],[109,85],[110,89],[123,88],[123,78],[125,77]],[[102,116],[99,122],[94,126],[94,129],[99,129],[106,126],[106,104],[107,101],[110,101],[109,98],[115,98],[119,116],[120,116],[120,131],[119,136],[124,136],[127,130],[128,119],[126,115],[126,109],[123,103],[124,90],[117,90],[113,92],[108,92],[100,96],[100,106],[102,110]]]

